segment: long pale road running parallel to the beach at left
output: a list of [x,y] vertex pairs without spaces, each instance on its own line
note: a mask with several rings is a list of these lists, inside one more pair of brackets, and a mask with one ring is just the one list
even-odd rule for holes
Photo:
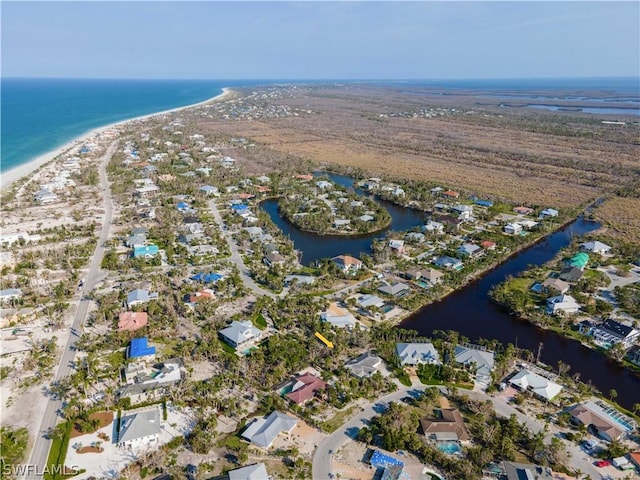
[[[93,253],[93,257],[91,259],[89,273],[87,274],[84,285],[80,291],[81,299],[78,303],[76,315],[73,320],[72,333],[69,335],[67,345],[62,352],[62,357],[60,358],[60,363],[58,365],[58,371],[54,377],[55,380],[60,380],[72,373],[73,369],[71,365],[73,364],[76,355],[75,343],[78,340],[79,336],[82,335],[82,327],[84,326],[84,322],[87,318],[87,312],[89,309],[89,304],[91,302],[87,299],[86,295],[91,292],[98,284],[98,282],[100,282],[104,277],[100,266],[102,264],[102,257],[104,256],[105,251],[104,243],[109,237],[109,230],[111,228],[111,216],[113,213],[113,200],[111,198],[111,190],[109,189],[109,183],[107,181],[106,166],[109,163],[111,156],[115,152],[116,146],[117,142],[111,143],[103,157],[100,159],[99,173],[100,186],[103,189],[104,193],[104,222],[102,224],[102,230],[100,231],[100,235],[98,237],[98,245],[96,246],[96,250]],[[73,332],[75,332],[77,336],[74,335]],[[39,472],[42,472],[42,469],[45,467],[47,463],[47,457],[49,455],[49,449],[51,448],[51,441],[45,438],[44,435],[51,428],[55,427],[58,421],[56,412],[60,408],[62,408],[62,402],[60,400],[50,399],[47,402],[42,423],[40,424],[40,429],[38,431],[38,436],[36,437],[33,449],[31,450],[29,464],[32,465],[32,468],[34,469],[35,466],[37,466]],[[33,471],[28,472],[26,478],[40,480],[41,476],[36,475],[36,472]]]

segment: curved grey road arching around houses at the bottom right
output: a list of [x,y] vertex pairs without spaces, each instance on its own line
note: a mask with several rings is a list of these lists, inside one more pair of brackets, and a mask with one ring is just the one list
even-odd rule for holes
[[[424,391],[425,388],[427,388],[427,386],[422,384],[414,384],[411,387],[401,386],[397,391],[384,397],[380,397],[367,404],[367,406],[351,418],[351,420],[344,423],[329,437],[320,442],[313,456],[313,479],[319,480],[335,478],[332,465],[332,453],[337,452],[343,444],[348,440],[353,439],[357,429],[367,425],[375,415],[381,413],[381,408],[386,406],[389,402],[398,401],[413,392]],[[440,390],[445,391],[443,387],[441,387]],[[524,423],[534,433],[537,433],[544,428],[543,424],[520,413],[501,399],[490,397],[484,392],[464,390],[464,393],[472,398],[491,400],[494,409],[499,415],[509,417],[512,414],[515,414],[518,421],[520,423]],[[376,410],[378,411],[376,412]],[[551,441],[552,437],[553,433],[549,433],[549,435],[546,436],[547,443]],[[590,475],[591,478],[601,478],[600,472],[598,472],[598,469],[592,464],[593,459],[590,459],[588,455],[581,451],[580,447],[576,446],[574,443],[566,441],[564,443],[567,446],[567,451],[571,454],[569,462],[572,468],[580,469],[584,474]]]

